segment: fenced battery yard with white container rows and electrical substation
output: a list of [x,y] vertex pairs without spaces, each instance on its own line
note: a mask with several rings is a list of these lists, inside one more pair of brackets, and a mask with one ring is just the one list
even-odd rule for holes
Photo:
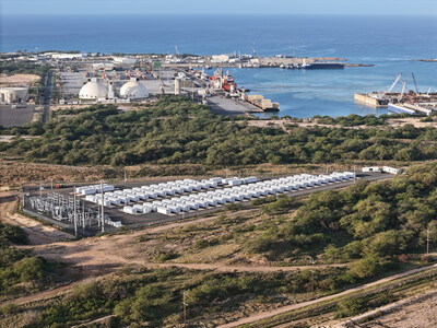
[[250,177],[190,178],[154,184],[96,184],[23,194],[23,210],[81,235],[164,223],[205,214],[253,198],[295,196],[355,181],[355,173],[299,174],[274,179]]

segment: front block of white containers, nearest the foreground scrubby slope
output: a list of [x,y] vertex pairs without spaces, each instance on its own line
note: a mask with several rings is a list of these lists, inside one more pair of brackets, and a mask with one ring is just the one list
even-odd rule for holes
[[296,175],[285,178],[272,179],[250,184],[246,186],[236,186],[232,188],[218,189],[215,191],[206,191],[193,194],[190,196],[175,197],[161,201],[145,202],[133,207],[123,207],[123,212],[129,214],[150,213],[156,211],[163,214],[187,212],[199,208],[215,207],[227,202],[249,200],[251,198],[275,195],[279,192],[298,190],[328,183],[336,183],[353,179],[354,173],[333,173],[331,175]]

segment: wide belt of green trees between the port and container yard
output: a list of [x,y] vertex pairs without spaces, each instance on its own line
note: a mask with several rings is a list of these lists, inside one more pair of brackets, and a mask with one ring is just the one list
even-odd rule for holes
[[[61,114],[73,117],[60,117]],[[214,115],[188,99],[165,97],[155,105],[119,113],[115,106],[59,112],[47,125],[3,129],[3,134],[40,136],[0,143],[0,152],[28,162],[52,164],[327,163],[352,160],[437,159],[437,129],[380,129],[385,118],[368,117],[367,129],[333,127],[249,127],[245,119]],[[339,120],[355,125],[356,117]],[[359,122],[363,120],[361,119]]]

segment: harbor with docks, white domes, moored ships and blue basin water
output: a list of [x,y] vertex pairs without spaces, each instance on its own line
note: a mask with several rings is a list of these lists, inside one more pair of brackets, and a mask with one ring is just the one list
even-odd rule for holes
[[[258,56],[256,52],[247,55],[237,51],[198,56],[175,50],[176,54],[166,55],[42,51],[15,54],[14,61],[52,67],[55,82],[50,106],[54,110],[91,104],[122,104],[123,108],[128,108],[132,104],[155,102],[162,94],[188,96],[226,116],[253,114],[258,117],[304,118],[314,115],[380,115],[389,110],[389,104],[400,105],[398,98],[401,91],[363,92],[369,87],[362,86],[358,87],[361,92],[356,92],[357,82],[366,81],[358,81],[356,77],[366,77],[368,83],[373,83],[371,77],[375,81],[387,81],[382,74],[375,75],[380,67],[373,63],[353,63],[344,57],[334,56]],[[411,60],[410,65],[418,67],[426,63]],[[420,67],[416,70],[422,82],[423,70]],[[101,92],[91,97],[85,92],[81,93],[86,84],[85,90]],[[400,83],[397,85],[399,87]],[[420,85],[421,90],[425,90],[425,85]],[[377,87],[382,89],[380,84]],[[415,98],[406,103],[423,108],[422,113],[429,115],[429,110],[434,110],[434,90],[421,92],[422,98],[416,92],[414,94]],[[412,94],[405,90],[402,102],[408,96]],[[38,103],[35,90],[31,89],[26,102],[32,104],[35,101]],[[404,112],[420,113],[417,107]],[[390,109],[399,108],[390,106]],[[38,110],[35,115],[39,115]],[[48,110],[45,109],[45,113]]]

